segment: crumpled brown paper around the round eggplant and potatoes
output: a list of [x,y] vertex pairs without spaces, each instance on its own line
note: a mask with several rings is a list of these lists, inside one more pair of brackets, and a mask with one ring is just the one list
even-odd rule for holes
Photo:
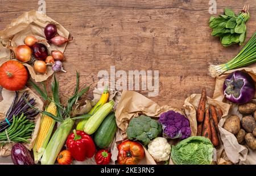
[[[236,71],[236,70],[242,70],[250,74],[250,76],[253,78],[254,82],[256,83],[256,67],[254,68],[239,68],[234,70],[229,70],[228,72],[225,72],[224,74],[221,74],[221,76],[216,78],[216,85],[215,90],[213,94],[213,99],[223,101],[230,103],[232,105],[232,108],[229,112],[229,115],[237,115],[242,118],[242,114],[238,112],[238,105],[228,102],[224,98],[224,94],[222,91],[222,86],[225,81],[225,78],[228,76],[228,74]],[[254,95],[253,101],[256,100],[256,95]],[[222,119],[219,123],[220,127],[223,127],[225,123],[226,118]],[[234,164],[256,164],[256,151],[251,150],[247,148],[245,145],[240,145],[237,143],[236,137],[226,131],[224,128],[220,128],[221,133],[221,139],[224,144],[224,148],[226,151],[226,155],[229,158],[230,161],[232,161]]]

